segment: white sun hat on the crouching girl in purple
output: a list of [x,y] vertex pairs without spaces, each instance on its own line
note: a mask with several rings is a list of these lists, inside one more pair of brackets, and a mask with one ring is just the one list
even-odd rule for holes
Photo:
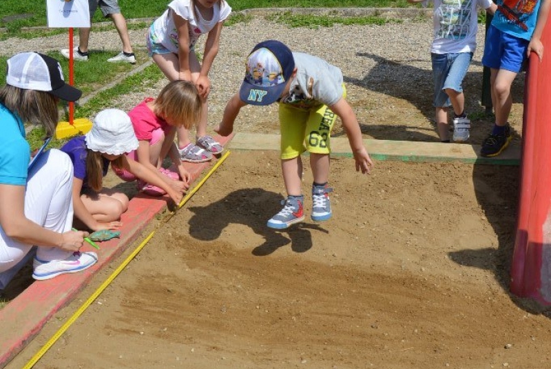
[[139,145],[130,117],[119,109],[98,112],[85,139],[87,148],[102,154],[121,155],[136,150]]

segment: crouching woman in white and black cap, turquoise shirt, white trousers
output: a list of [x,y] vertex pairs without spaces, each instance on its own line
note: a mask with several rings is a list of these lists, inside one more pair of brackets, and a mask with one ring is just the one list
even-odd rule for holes
[[73,232],[72,163],[59,150],[38,154],[30,168],[23,122],[54,134],[59,99],[82,92],[63,81],[58,61],[37,52],[8,59],[0,88],[0,290],[34,255],[34,279],[50,279],[94,265],[94,252],[80,252],[86,232]]

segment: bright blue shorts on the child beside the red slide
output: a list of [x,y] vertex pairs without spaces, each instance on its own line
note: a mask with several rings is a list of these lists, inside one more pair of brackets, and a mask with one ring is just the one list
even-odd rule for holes
[[518,73],[528,59],[526,57],[528,43],[530,41],[511,36],[491,26],[486,35],[482,64],[488,68]]

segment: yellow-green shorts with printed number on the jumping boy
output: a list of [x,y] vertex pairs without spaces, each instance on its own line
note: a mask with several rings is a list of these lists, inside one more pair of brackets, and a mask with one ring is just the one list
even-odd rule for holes
[[[342,97],[346,88],[342,86]],[[280,103],[281,159],[293,159],[305,151],[312,154],[331,153],[331,130],[337,114],[320,104],[310,109]]]

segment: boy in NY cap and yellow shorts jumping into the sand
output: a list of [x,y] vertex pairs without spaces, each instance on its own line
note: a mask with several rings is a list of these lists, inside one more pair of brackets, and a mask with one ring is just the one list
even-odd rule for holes
[[318,57],[291,52],[274,40],[258,43],[247,57],[245,68],[240,91],[228,101],[216,132],[229,135],[240,109],[247,104],[280,103],[281,166],[288,196],[282,203],[284,208],[267,225],[282,229],[304,219],[300,155],[305,151],[310,153],[313,172],[311,218],[314,221],[331,218],[330,136],[337,116],[349,138],[356,170],[365,174],[373,166],[356,115],[344,99],[346,89],[341,70]]

